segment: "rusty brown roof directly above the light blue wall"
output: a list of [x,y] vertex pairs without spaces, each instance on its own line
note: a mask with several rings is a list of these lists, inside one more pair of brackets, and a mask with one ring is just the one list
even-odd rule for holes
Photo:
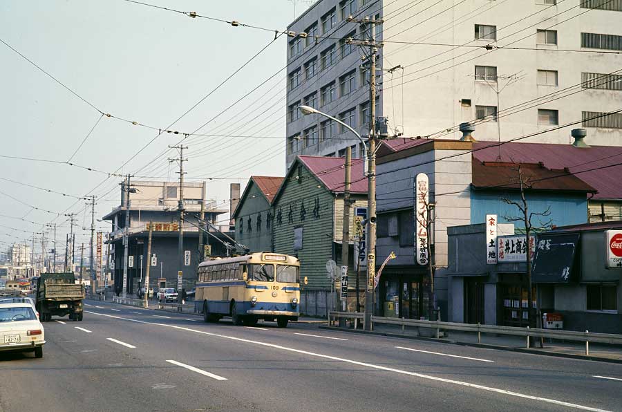
[[[473,179],[475,188],[495,187],[498,189],[518,189],[518,168],[516,163],[480,162],[473,159]],[[547,169],[542,164],[520,164],[523,181],[532,189],[596,192],[580,178],[570,174],[567,169]]]

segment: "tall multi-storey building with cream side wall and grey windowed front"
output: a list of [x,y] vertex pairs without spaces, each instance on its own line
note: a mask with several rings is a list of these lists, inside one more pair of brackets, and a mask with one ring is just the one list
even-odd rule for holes
[[598,117],[622,109],[622,0],[319,0],[288,27],[288,165],[348,146],[361,156],[347,129],[296,110],[368,134],[368,48],[347,39],[370,30],[350,15],[384,20],[376,115],[391,135],[458,139],[458,124],[480,120],[479,140],[559,126],[524,141],[568,143],[584,127],[589,144],[622,144],[622,112]]

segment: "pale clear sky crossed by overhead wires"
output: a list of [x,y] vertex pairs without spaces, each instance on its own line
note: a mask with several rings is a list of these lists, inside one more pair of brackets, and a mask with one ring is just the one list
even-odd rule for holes
[[[146,2],[280,30],[294,19],[292,0]],[[309,3],[296,0],[296,15]],[[274,33],[192,19],[124,0],[2,0],[0,39],[100,111],[164,129],[269,44]],[[171,129],[194,132],[283,69],[285,45],[283,35]],[[122,167],[158,131],[102,117],[4,44],[0,44],[0,62],[0,154],[67,162],[100,120],[71,162],[106,173],[153,176],[151,180],[178,176],[174,173],[178,164],[167,162],[178,153],[164,151],[180,141],[179,135],[160,135]],[[229,183],[240,182],[243,188],[251,174],[283,176],[284,88],[285,71],[281,71],[198,131],[212,136],[186,139],[189,180],[226,178],[208,181],[209,198],[223,203],[229,198]],[[249,135],[263,138],[235,137]],[[0,164],[0,191],[4,193],[0,194],[0,242],[4,242],[0,250],[32,236],[8,227],[40,232],[39,223],[54,221],[59,225],[58,238],[64,241],[67,218],[29,205],[76,212],[78,225],[90,226],[84,200],[15,182],[74,196],[95,194],[99,197],[96,216],[120,203],[121,178],[49,162],[0,158]],[[88,241],[88,232],[79,228],[77,232],[78,242]]]

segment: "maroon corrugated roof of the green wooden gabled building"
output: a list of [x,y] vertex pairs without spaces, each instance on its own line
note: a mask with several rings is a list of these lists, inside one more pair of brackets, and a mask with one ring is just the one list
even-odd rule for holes
[[[343,181],[346,178],[344,167],[346,158],[326,158],[321,156],[298,156],[303,165],[311,171],[330,191],[343,193]],[[363,161],[352,159],[350,172],[351,193],[366,194],[367,178],[363,175]]]

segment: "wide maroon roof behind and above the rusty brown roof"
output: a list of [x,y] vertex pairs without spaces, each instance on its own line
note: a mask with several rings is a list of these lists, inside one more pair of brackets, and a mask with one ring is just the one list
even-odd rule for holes
[[[480,162],[495,162],[498,156],[496,142],[473,144],[473,158]],[[622,147],[578,148],[571,144],[510,142],[501,146],[501,161],[542,162],[547,169],[567,168],[598,190],[594,198],[622,199]]]

